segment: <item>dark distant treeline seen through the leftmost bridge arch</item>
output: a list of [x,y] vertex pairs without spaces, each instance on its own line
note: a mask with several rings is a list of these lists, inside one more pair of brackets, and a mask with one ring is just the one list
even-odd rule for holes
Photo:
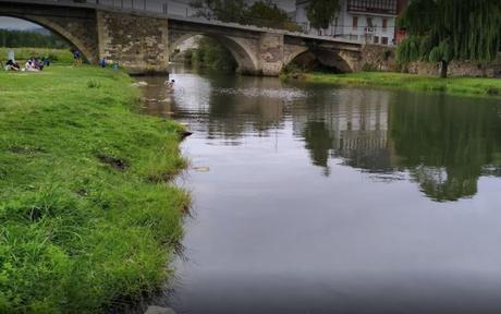
[[0,29],[0,47],[66,49],[70,48],[70,45],[53,34],[44,34],[37,31]]

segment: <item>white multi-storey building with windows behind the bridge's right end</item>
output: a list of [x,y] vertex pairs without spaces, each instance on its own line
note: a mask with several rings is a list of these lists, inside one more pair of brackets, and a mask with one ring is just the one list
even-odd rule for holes
[[394,45],[396,16],[404,1],[342,0],[341,10],[329,28],[316,29],[307,17],[309,1],[297,0],[295,21],[303,31],[341,37],[364,44]]

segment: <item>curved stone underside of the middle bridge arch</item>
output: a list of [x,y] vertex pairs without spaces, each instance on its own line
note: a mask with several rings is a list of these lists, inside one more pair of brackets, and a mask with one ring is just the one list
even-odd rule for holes
[[[185,40],[198,35],[210,37],[227,48],[239,65],[237,72],[245,74],[257,74],[259,72],[259,62],[257,60],[256,53],[252,49],[252,43],[247,43],[247,39],[244,38],[235,38],[227,35],[205,34],[201,32],[185,33],[178,36],[170,35],[169,55],[171,56],[174,50]],[[171,40],[172,37],[174,37],[173,40]]]

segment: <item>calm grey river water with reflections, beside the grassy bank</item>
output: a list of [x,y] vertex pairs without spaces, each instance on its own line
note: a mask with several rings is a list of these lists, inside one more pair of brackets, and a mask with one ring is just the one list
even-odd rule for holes
[[146,110],[194,131],[176,313],[501,313],[499,100],[171,78]]

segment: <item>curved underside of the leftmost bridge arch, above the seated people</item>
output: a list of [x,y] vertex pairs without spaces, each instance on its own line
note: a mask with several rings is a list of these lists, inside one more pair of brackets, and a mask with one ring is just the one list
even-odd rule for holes
[[[39,16],[39,15],[23,15],[23,14],[12,14],[12,13],[3,13],[0,12],[0,16],[7,17],[14,17],[19,20],[24,20],[27,22],[35,23],[48,31],[52,32],[56,35],[59,35],[61,38],[66,40],[70,45],[78,49],[82,55],[89,61],[89,62],[97,62],[97,51],[96,47],[89,47],[84,43],[84,38],[82,34],[75,34],[72,32],[75,27],[72,25],[64,25],[58,23],[58,21],[53,21],[50,17]],[[75,25],[76,28],[81,27],[82,25]]]

